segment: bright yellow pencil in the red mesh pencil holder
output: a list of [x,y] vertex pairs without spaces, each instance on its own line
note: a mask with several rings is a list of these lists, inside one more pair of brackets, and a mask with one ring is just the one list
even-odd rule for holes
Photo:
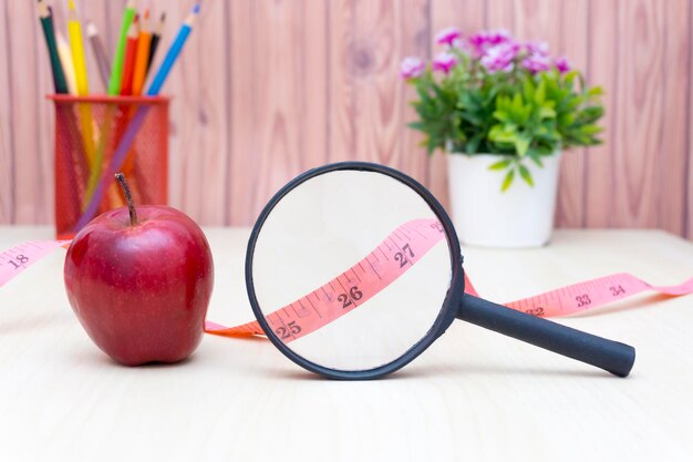
[[[82,40],[82,24],[74,10],[74,1],[68,0],[70,12],[68,13],[68,33],[70,34],[70,48],[72,50],[72,63],[74,65],[74,79],[79,96],[89,95],[89,79],[86,76],[86,64],[84,62],[84,43]],[[82,125],[82,137],[84,140],[84,151],[86,161],[92,171],[99,168],[94,165],[94,129],[92,126],[92,107],[89,104],[79,104],[80,119]]]

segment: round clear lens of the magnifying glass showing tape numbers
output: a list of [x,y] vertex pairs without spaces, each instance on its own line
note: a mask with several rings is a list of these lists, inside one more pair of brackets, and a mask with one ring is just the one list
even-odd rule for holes
[[259,228],[252,287],[265,321],[302,359],[363,371],[432,330],[451,287],[438,217],[414,189],[331,171],[288,192]]

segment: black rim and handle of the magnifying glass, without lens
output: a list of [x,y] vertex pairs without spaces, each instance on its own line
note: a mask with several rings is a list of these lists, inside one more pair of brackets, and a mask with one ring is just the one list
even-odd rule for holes
[[[325,368],[307,360],[293,352],[269,327],[265,315],[260,309],[260,305],[255,294],[255,285],[252,278],[252,259],[255,255],[255,246],[258,240],[262,225],[272,209],[279,202],[289,194],[294,187],[330,172],[354,171],[354,172],[374,172],[387,175],[416,192],[428,204],[431,209],[441,220],[447,238],[452,265],[452,280],[441,311],[428,332],[411,347],[400,358],[387,362],[383,366],[359,371],[344,371]],[[246,254],[246,287],[248,298],[255,316],[267,335],[267,338],[290,360],[300,367],[339,380],[369,380],[377,379],[397,369],[406,366],[431,346],[455,319],[463,319],[477,326],[495,330],[499,333],[514,337],[516,339],[529,342],[531,345],[555,351],[582,362],[604,369],[616,376],[627,377],[635,360],[635,350],[624,343],[613,340],[603,339],[582,332],[544,318],[537,318],[521,311],[517,311],[478,297],[464,292],[464,269],[462,267],[463,257],[459,249],[459,242],[452,220],[438,201],[414,178],[384,165],[372,164],[366,162],[341,162],[324,165],[310,170],[283,186],[260,213],[248,242],[248,250]]]

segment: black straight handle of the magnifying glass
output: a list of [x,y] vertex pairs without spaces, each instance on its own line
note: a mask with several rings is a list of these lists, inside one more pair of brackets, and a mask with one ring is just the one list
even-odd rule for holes
[[527,315],[465,294],[457,318],[627,377],[635,362],[630,345]]

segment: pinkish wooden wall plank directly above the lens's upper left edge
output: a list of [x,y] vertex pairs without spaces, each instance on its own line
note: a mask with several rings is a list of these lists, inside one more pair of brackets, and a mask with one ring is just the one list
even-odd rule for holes
[[289,179],[327,162],[327,43],[317,39],[327,35],[327,8],[286,0],[231,8],[232,224],[252,224]]

